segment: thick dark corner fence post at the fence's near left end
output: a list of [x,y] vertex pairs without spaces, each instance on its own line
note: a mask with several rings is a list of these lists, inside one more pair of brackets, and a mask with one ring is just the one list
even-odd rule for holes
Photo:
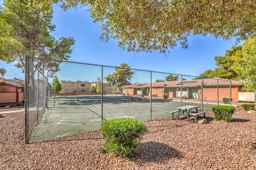
[[24,120],[24,141],[28,143],[28,55],[25,54],[25,120]]

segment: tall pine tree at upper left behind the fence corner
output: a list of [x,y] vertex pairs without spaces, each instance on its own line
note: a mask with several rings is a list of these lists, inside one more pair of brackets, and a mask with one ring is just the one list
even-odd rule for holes
[[51,23],[52,12],[25,10],[26,6],[20,0],[4,0],[3,5],[0,8],[0,60],[6,63],[16,61],[16,67],[24,71],[26,54],[35,57],[31,60],[39,70],[44,63],[45,70],[58,71],[60,62],[45,59],[58,57],[67,61],[74,39],[55,39],[50,35],[55,29]]

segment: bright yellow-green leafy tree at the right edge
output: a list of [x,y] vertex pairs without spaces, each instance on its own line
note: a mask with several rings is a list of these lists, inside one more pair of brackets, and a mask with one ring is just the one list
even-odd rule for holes
[[246,82],[243,90],[256,91],[256,37],[247,39],[242,46],[242,78]]

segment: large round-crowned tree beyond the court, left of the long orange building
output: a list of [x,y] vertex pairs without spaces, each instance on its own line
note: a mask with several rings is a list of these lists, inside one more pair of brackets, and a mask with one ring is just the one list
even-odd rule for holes
[[130,69],[130,66],[126,63],[116,66],[113,74],[109,74],[105,77],[108,83],[112,84],[114,87],[127,86],[131,83],[129,82],[132,78],[134,72]]

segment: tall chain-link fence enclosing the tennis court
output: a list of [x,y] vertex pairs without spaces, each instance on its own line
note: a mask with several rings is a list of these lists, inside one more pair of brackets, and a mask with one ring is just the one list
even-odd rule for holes
[[170,117],[170,111],[187,102],[207,110],[222,98],[231,98],[227,93],[223,96],[222,88],[231,91],[224,80],[216,78],[210,83],[195,76],[127,66],[27,57],[25,142],[98,130],[102,121],[116,117],[135,117],[140,121]]

